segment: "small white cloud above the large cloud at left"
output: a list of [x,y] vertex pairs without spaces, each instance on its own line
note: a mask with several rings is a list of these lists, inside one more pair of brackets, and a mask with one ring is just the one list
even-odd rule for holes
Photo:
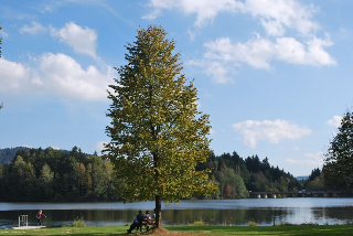
[[58,37],[61,42],[74,49],[74,52],[82,53],[97,58],[97,34],[96,31],[85,26],[82,28],[74,22],[66,23],[65,26],[57,30],[51,26],[51,35]]

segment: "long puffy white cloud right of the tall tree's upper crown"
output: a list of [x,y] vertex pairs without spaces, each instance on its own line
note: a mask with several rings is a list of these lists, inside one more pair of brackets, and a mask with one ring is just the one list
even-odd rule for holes
[[324,51],[332,44],[329,35],[325,40],[312,37],[306,44],[293,37],[278,37],[274,43],[259,34],[246,43],[232,43],[231,39],[221,37],[205,43],[203,58],[189,61],[188,65],[201,66],[214,83],[225,84],[233,82],[229,74],[242,63],[263,69],[270,69],[274,60],[297,65],[335,65],[335,60]]

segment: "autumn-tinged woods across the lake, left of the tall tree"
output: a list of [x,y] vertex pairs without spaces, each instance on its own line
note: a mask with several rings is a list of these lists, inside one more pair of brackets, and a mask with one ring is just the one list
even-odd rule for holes
[[[0,165],[0,201],[118,201],[110,161],[71,152],[19,149],[11,163]],[[107,176],[109,174],[109,176]]]

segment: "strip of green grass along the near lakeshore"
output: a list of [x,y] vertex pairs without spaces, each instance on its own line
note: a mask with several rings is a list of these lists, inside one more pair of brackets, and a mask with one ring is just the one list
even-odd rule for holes
[[[0,229],[0,235],[128,235],[127,226]],[[353,235],[353,225],[295,226],[167,226],[159,232],[131,235]]]

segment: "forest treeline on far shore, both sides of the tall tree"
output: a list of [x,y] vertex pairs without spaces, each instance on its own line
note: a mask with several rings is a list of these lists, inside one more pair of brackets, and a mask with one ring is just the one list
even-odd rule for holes
[[[212,169],[210,181],[220,189],[208,199],[242,199],[249,191],[322,190],[319,169],[307,181],[270,165],[267,158],[240,158],[236,152],[212,154],[197,169]],[[122,181],[114,165],[97,153],[87,155],[74,147],[71,151],[18,149],[11,162],[0,164],[0,201],[7,202],[79,202],[119,201]],[[204,199],[205,196],[200,196]]]

